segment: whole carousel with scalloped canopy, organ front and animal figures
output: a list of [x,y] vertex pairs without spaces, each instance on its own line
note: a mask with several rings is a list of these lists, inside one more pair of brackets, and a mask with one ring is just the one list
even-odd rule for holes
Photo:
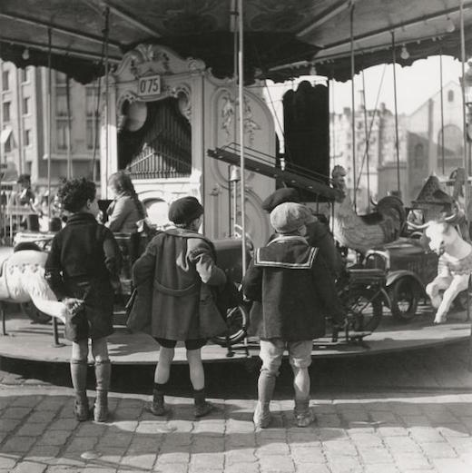
[[[19,67],[47,66],[82,83],[101,78],[97,83],[100,144],[95,150],[100,175],[94,178],[101,183],[102,198],[108,199],[108,176],[126,170],[152,223],[163,229],[170,202],[184,195],[197,197],[205,208],[202,232],[216,241],[221,265],[239,282],[251,250],[270,236],[262,201],[280,186],[296,187],[303,202],[320,216],[324,213],[349,261],[337,281],[348,314],[345,328],[315,340],[313,356],[406,350],[469,337],[471,270],[463,260],[470,260],[472,254],[467,178],[472,74],[465,71],[472,3],[345,0],[333,5],[328,0],[309,0],[279,5],[269,0],[199,0],[174,4],[169,8],[148,0],[21,4],[7,0],[0,6],[3,60]],[[401,65],[433,54],[458,56],[464,93],[464,169],[457,171],[452,195],[447,193],[447,182],[438,180],[435,191],[424,197],[430,187],[429,180],[425,183],[424,192],[413,202],[423,222],[409,226],[412,209],[399,198],[404,184],[396,87],[395,195],[372,202],[373,212],[360,215],[357,187],[366,172],[368,202],[371,197],[369,152],[364,156],[367,171],[363,171],[365,160],[359,167],[352,153],[353,189],[347,186],[347,172],[329,162],[331,81],[351,79],[354,110],[355,74],[371,65],[391,63],[395,84],[398,52],[403,48],[408,48],[408,57],[402,54]],[[305,84],[284,97],[286,151],[281,155],[271,103],[264,97],[267,81],[283,82],[315,70],[326,77],[324,84]],[[49,74],[50,127],[51,103]],[[366,116],[366,130],[367,120]],[[352,150],[357,139],[354,127],[353,118]],[[307,138],[310,134],[315,138]],[[366,140],[369,143],[367,135]],[[49,171],[51,154],[49,148]],[[50,191],[50,172],[48,185]],[[441,201],[440,192],[450,199]],[[4,303],[0,356],[68,359],[68,347],[61,340],[64,308],[44,283],[44,250],[53,234],[24,232],[16,241],[43,246],[5,251],[1,300],[29,304],[26,312],[44,323],[31,330],[29,319],[5,315]],[[124,252],[126,237],[122,240]],[[129,269],[117,303],[111,357],[113,363],[154,363],[152,339],[126,330],[126,306],[133,294]],[[25,279],[30,283],[25,284]],[[463,310],[448,317],[455,300],[461,301]],[[431,301],[434,310],[425,301]],[[247,360],[257,354],[257,340],[247,337],[249,310],[241,301],[228,311],[228,331],[203,350],[206,360]]]

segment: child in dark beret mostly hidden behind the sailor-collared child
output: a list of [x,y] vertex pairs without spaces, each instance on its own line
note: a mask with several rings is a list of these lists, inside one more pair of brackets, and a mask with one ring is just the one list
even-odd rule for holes
[[[270,194],[262,202],[262,209],[266,212],[272,212],[280,203],[296,202],[300,203],[300,194],[297,189],[292,187],[282,187]],[[329,233],[329,228],[324,223],[318,222],[317,218],[311,215],[306,224],[306,235],[310,246],[320,248],[320,254],[328,265],[329,271],[334,278],[337,278],[342,271],[343,261],[336,249],[333,237]],[[272,238],[272,237],[270,237]]]

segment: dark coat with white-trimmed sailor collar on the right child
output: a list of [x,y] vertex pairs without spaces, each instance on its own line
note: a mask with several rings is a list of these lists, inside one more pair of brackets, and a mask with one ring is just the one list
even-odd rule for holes
[[344,309],[319,249],[300,236],[279,236],[255,251],[243,281],[254,301],[250,335],[312,340],[325,334],[325,314],[340,321]]

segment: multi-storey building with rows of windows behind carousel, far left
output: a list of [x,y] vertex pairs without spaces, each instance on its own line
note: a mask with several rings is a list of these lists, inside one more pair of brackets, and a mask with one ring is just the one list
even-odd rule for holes
[[[8,166],[5,180],[29,173],[36,186],[48,181],[48,70],[16,68],[0,63],[0,163]],[[100,143],[97,135],[97,84],[67,85],[64,74],[53,71],[51,128],[51,181],[60,178],[100,175]],[[69,103],[69,107],[67,105]],[[70,113],[68,113],[70,110]],[[70,143],[70,146],[69,146]]]

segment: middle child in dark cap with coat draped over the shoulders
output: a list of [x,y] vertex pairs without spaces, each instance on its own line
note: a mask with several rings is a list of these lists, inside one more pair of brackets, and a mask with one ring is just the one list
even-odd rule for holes
[[[161,345],[152,391],[151,412],[155,416],[169,411],[164,396],[177,341],[183,341],[187,350],[195,417],[206,416],[214,409],[205,399],[202,347],[207,339],[226,330],[210,289],[223,285],[226,275],[215,263],[211,241],[198,232],[202,214],[203,207],[194,197],[172,202],[169,220],[175,227],[158,233],[133,266],[138,293],[133,309],[140,304],[146,308],[149,313],[137,315],[151,320],[150,333]],[[148,287],[147,291],[140,292],[143,287]]]

